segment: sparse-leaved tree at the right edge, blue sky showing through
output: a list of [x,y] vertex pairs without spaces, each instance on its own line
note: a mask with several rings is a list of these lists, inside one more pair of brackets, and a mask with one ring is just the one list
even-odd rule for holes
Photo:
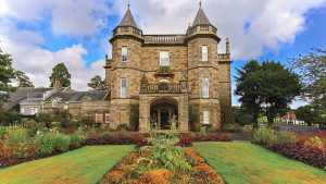
[[304,84],[302,96],[315,106],[326,108],[326,49],[312,49],[306,56],[291,59],[292,69],[299,70]]

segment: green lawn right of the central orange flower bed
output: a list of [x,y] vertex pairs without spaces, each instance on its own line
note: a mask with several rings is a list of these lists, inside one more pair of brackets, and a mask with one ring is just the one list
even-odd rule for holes
[[326,172],[250,143],[195,143],[193,147],[229,184],[325,184]]

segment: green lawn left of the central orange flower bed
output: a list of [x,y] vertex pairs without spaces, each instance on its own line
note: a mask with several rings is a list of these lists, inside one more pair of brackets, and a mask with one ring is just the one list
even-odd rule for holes
[[89,146],[0,171],[0,183],[97,183],[135,146]]

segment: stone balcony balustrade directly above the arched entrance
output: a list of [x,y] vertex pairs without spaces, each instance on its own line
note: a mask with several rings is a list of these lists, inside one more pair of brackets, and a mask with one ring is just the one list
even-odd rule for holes
[[142,83],[140,94],[180,94],[179,83]]

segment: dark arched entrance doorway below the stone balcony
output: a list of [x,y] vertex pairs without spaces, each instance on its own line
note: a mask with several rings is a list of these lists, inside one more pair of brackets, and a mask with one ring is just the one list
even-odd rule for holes
[[172,123],[178,126],[178,106],[173,98],[160,98],[151,102],[151,127],[170,130]]

